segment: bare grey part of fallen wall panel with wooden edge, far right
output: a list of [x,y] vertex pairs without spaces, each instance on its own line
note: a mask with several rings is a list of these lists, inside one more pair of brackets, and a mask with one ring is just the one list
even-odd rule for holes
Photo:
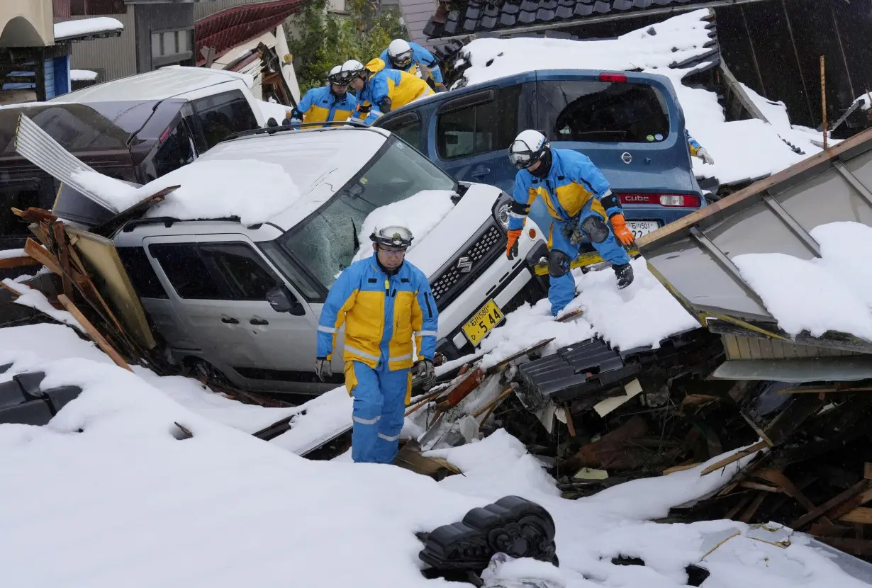
[[872,130],[852,137],[637,241],[651,271],[705,320],[776,323],[732,258],[820,257],[809,231],[851,220],[872,226]]

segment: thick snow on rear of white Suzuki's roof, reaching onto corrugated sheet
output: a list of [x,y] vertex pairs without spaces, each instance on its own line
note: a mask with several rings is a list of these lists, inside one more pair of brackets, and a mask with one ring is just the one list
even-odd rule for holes
[[99,172],[79,170],[73,177],[119,211],[163,188],[181,186],[146,213],[179,220],[237,216],[243,225],[255,225],[289,208],[300,195],[282,166],[256,159],[197,161],[141,187]]

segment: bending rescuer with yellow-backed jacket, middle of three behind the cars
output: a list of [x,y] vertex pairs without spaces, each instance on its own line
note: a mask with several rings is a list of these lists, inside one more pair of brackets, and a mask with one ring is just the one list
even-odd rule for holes
[[411,73],[385,69],[385,62],[378,57],[365,66],[351,60],[342,67],[343,73],[350,75],[351,89],[358,93],[358,109],[353,118],[364,118],[361,113],[370,112],[368,109],[378,109],[383,114],[391,112],[434,93],[423,79]]

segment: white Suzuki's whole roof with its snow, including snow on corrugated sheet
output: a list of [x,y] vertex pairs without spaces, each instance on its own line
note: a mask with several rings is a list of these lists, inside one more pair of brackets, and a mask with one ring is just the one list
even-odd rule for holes
[[328,128],[257,134],[215,145],[187,166],[133,187],[97,172],[74,172],[119,211],[181,186],[146,216],[178,220],[239,217],[290,229],[344,186],[390,137],[382,129]]

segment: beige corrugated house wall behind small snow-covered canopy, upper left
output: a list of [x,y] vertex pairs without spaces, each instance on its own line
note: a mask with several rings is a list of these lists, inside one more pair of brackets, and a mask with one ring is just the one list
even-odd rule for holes
[[[94,39],[86,43],[72,44],[70,63],[74,70],[101,72],[100,81],[133,76],[136,73],[136,30],[133,4],[127,6],[126,14],[96,15],[115,18],[124,24],[119,37]],[[73,17],[73,20],[87,17]]]

